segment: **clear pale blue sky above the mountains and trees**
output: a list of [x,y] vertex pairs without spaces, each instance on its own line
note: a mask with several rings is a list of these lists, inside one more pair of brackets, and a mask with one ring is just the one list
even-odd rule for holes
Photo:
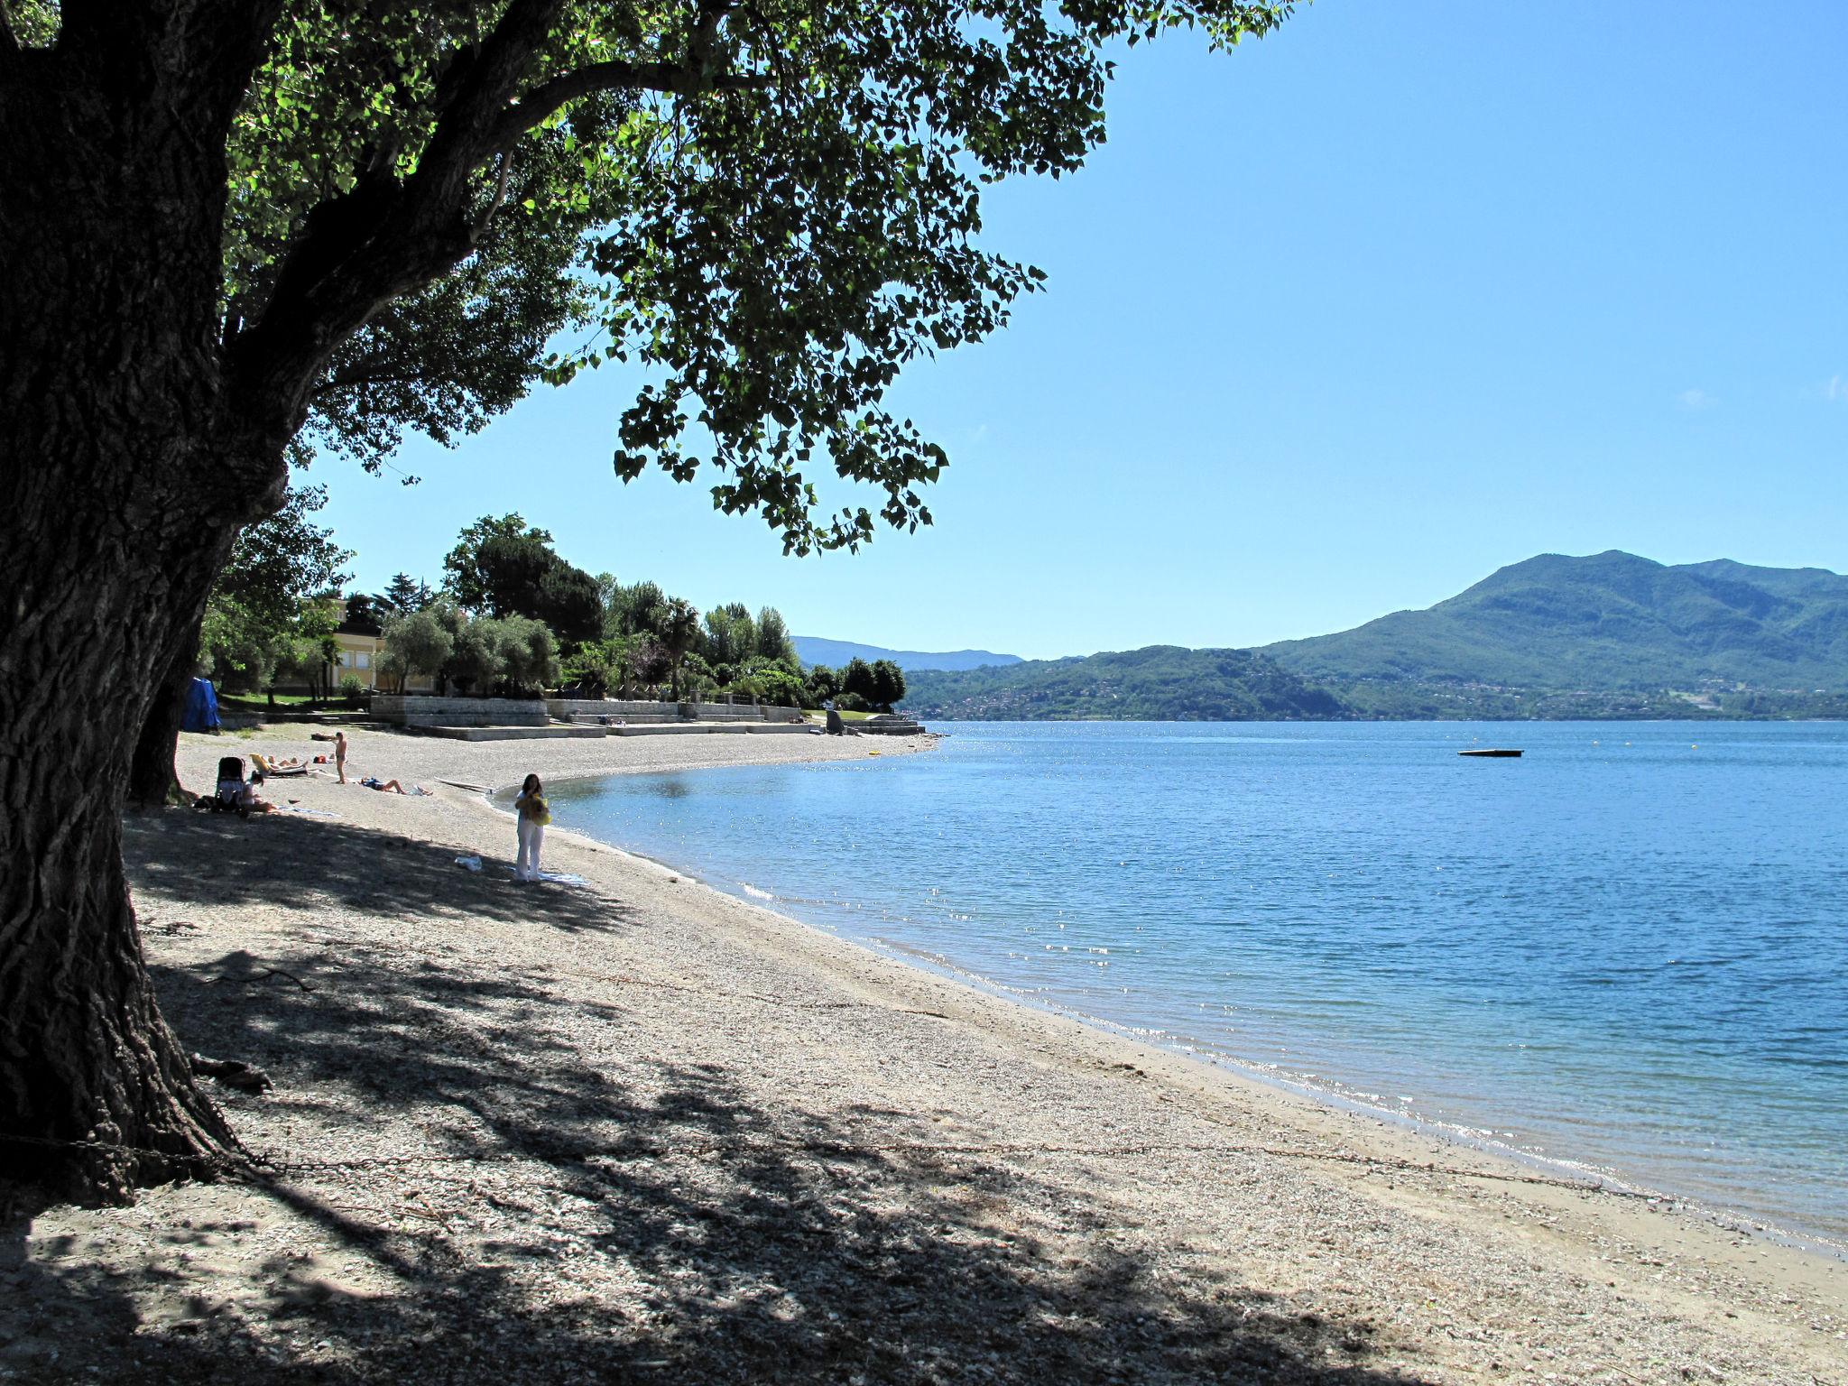
[[1050,274],[913,371],[937,525],[785,560],[610,471],[636,377],[541,390],[401,488],[316,468],[355,586],[519,510],[582,567],[800,634],[1024,656],[1255,645],[1534,553],[1848,569],[1848,4],[1319,0],[1124,55]]

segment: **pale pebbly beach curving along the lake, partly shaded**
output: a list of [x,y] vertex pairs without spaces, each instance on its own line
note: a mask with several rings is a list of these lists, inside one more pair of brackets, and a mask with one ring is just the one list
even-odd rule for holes
[[[824,737],[360,736],[399,798],[133,819],[268,1173],[0,1240],[0,1379],[1848,1382],[1848,1266],[907,968],[499,785]],[[242,748],[309,750],[262,734]],[[187,737],[190,782],[233,739]],[[329,817],[322,817],[329,815]],[[480,854],[471,874],[458,854]]]

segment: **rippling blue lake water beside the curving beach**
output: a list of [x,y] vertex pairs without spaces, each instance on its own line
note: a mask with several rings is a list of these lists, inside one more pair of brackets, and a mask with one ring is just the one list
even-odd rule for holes
[[[1848,1242],[1848,726],[948,730],[560,785],[554,821],[1026,1000]],[[1456,756],[1477,739],[1526,756]]]

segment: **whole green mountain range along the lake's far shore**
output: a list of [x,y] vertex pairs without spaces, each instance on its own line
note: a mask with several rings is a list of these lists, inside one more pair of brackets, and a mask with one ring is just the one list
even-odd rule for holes
[[1848,577],[1541,554],[1336,636],[906,684],[906,711],[974,721],[1848,717]]

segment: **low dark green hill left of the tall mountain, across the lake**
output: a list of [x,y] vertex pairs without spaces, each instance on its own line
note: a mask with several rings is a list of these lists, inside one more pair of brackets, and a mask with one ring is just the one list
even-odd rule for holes
[[1253,650],[1149,645],[1002,669],[906,671],[900,704],[954,721],[1247,721],[1340,717],[1340,700]]

